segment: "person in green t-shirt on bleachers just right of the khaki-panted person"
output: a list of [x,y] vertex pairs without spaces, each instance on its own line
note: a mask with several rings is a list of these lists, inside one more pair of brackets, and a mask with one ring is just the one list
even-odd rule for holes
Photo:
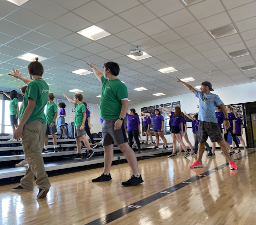
[[[48,101],[46,103],[46,132],[45,132],[45,140],[44,140],[44,147],[42,150],[42,153],[46,153],[46,152],[59,152],[59,150],[57,149],[57,138],[56,138],[56,132],[57,132],[57,128],[56,128],[56,124],[55,124],[55,120],[57,118],[57,114],[58,114],[58,108],[57,105],[55,104],[55,102],[53,102],[55,96],[53,93],[49,93],[48,94]],[[48,150],[48,135],[52,136],[52,141],[53,141],[53,145],[54,145],[54,149],[53,150]]]

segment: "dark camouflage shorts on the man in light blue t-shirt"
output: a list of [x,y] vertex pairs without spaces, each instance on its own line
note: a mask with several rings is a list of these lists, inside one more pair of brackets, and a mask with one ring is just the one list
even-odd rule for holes
[[218,123],[200,121],[198,124],[198,142],[206,142],[210,138],[211,142],[222,141],[222,136]]

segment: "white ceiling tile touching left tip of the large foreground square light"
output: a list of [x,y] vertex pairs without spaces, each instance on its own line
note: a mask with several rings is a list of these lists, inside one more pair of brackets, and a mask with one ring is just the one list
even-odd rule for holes
[[50,36],[50,37],[53,37],[56,39],[72,33],[72,31],[70,31],[66,28],[63,28],[53,22],[48,22],[45,25],[42,25],[35,30],[39,33],[45,34],[47,36]]

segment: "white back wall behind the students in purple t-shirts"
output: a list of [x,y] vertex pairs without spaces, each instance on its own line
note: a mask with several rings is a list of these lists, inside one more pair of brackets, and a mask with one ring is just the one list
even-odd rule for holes
[[[249,83],[249,84],[241,84],[241,85],[235,85],[235,86],[229,86],[229,87],[216,88],[212,93],[217,94],[225,105],[239,104],[239,103],[256,101],[256,94],[254,94],[255,88],[256,88],[255,83]],[[199,101],[198,101],[198,98],[196,98],[193,93],[177,95],[173,97],[167,97],[167,98],[162,98],[158,100],[152,100],[152,101],[147,101],[147,102],[142,102],[137,104],[130,104],[129,108],[134,108],[136,112],[140,114],[141,113],[140,108],[142,107],[164,104],[169,102],[176,102],[176,101],[180,101],[180,107],[182,111],[185,111],[186,113],[198,112],[198,108],[196,105],[199,103]],[[188,135],[189,141],[193,145],[194,139],[193,139],[191,128],[187,129],[187,135]],[[141,138],[143,140],[145,139],[145,137],[141,137]],[[167,142],[172,142],[171,135],[165,135],[165,138]],[[242,138],[244,141],[246,140],[244,128],[243,128]],[[207,143],[209,144],[209,146],[211,146],[211,142],[209,141],[209,139]],[[216,145],[216,147],[218,146]]]

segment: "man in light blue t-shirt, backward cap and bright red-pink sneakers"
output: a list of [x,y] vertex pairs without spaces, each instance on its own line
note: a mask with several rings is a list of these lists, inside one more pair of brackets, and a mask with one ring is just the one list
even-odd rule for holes
[[209,137],[211,142],[218,143],[225,157],[228,159],[229,168],[231,170],[236,170],[237,166],[229,156],[228,149],[226,148],[224,141],[222,140],[220,128],[217,123],[217,118],[215,117],[215,108],[218,105],[222,109],[225,116],[224,126],[228,128],[230,127],[230,124],[227,119],[227,111],[225,105],[220,100],[218,95],[210,93],[210,91],[213,91],[213,89],[211,88],[211,83],[208,81],[202,82],[200,88],[201,91],[196,91],[191,85],[186,84],[184,81],[178,79],[177,77],[176,79],[177,82],[182,83],[187,89],[193,92],[195,94],[195,97],[199,98],[198,121],[200,122],[198,124],[197,130],[199,142],[198,159],[190,166],[190,168],[203,167],[201,159],[204,152],[204,144]]

